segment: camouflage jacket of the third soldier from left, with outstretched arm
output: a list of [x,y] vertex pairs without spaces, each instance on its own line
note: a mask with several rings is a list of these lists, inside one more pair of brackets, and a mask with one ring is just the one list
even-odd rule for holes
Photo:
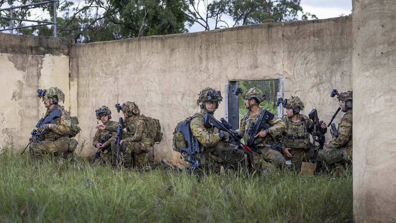
[[[113,133],[113,136],[107,141],[104,145],[109,146],[112,141],[114,141],[116,133],[117,133],[118,123],[116,125],[116,130]],[[106,127],[106,129],[108,129]],[[147,123],[146,120],[143,119],[140,115],[135,115],[132,120],[128,118],[124,118],[122,122],[122,129],[123,131],[122,140],[125,142],[148,142],[150,145],[151,139],[147,137]]]

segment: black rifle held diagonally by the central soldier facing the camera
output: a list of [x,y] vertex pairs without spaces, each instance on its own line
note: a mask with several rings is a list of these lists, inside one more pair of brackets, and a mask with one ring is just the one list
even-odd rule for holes
[[[238,144],[239,146],[242,146],[243,148],[245,148],[247,151],[251,152],[257,152],[259,154],[262,154],[262,152],[260,150],[255,150],[255,149],[251,149],[248,146],[246,146],[245,144],[243,144],[241,142],[241,138],[242,135],[239,134],[238,132],[234,132],[232,131],[232,125],[226,121],[224,118],[220,119],[221,122],[217,121],[217,119],[215,119],[215,117],[213,117],[211,114],[206,114],[205,118],[204,118],[204,125],[209,128],[209,127],[216,127],[217,129],[228,133],[232,138],[233,141],[236,142],[236,144]],[[234,151],[232,151],[232,153],[236,153],[236,149],[234,149]]]

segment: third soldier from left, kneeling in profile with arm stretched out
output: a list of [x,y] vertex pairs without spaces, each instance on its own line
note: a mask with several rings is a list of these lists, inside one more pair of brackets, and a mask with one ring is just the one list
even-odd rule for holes
[[[124,131],[122,132],[122,140],[120,142],[122,163],[127,168],[149,169],[147,154],[150,150],[151,139],[148,137],[147,123],[140,114],[139,107],[135,102],[125,102],[121,105],[121,111],[124,115],[124,121],[122,123],[122,129]],[[99,125],[97,128],[101,130],[107,129],[104,125]],[[116,128],[114,131],[116,131]],[[111,144],[113,157],[115,157],[117,150],[114,138],[115,133],[102,146],[109,146]]]

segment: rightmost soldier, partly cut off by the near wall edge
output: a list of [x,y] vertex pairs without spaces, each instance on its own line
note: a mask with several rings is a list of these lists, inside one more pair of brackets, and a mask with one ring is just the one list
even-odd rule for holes
[[338,124],[338,136],[332,134],[333,140],[325,142],[326,149],[319,153],[319,160],[327,170],[334,169],[335,163],[352,164],[352,94],[352,90],[348,90],[337,96],[345,114]]

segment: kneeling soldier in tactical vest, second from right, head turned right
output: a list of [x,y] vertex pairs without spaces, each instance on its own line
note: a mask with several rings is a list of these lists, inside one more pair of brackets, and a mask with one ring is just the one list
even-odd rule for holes
[[[312,120],[300,112],[304,110],[304,103],[297,96],[286,100],[286,115],[282,121],[286,124],[283,133],[283,144],[285,148],[282,153],[286,161],[291,161],[293,169],[301,169],[302,162],[310,162],[315,149],[310,142],[308,126]],[[326,123],[321,125],[327,131]],[[312,132],[312,131],[311,131]]]

